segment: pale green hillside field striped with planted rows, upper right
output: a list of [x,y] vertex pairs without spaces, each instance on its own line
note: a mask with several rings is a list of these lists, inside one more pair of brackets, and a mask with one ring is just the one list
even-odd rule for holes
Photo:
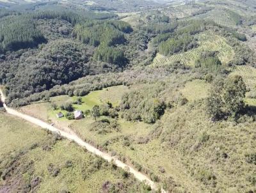
[[225,65],[234,57],[234,50],[228,45],[227,40],[212,31],[205,31],[198,35],[199,46],[195,49],[183,52],[181,54],[174,54],[170,57],[157,54],[153,63],[155,65],[164,65],[180,61],[184,65],[194,66],[196,59],[199,58],[200,53],[205,50],[218,51],[218,58]]

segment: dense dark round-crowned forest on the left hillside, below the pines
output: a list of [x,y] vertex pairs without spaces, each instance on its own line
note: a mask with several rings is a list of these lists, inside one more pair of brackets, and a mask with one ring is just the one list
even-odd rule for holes
[[10,96],[22,98],[56,84],[74,81],[90,72],[90,50],[81,43],[55,40],[35,55],[31,52],[25,54],[30,54],[28,59],[22,57],[17,61],[0,63],[0,81],[6,82]]

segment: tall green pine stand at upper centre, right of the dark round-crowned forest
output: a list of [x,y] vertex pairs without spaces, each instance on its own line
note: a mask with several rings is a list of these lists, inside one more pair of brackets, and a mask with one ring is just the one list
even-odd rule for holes
[[81,42],[98,47],[94,58],[122,67],[127,63],[124,52],[115,45],[126,42],[124,34],[132,28],[122,21],[95,21],[77,24],[73,35]]

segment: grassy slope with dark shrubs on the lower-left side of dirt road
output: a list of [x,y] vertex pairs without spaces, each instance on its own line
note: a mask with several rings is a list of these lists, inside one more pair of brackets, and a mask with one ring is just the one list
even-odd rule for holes
[[106,181],[140,190],[134,179],[124,181],[119,169],[70,141],[3,112],[0,123],[0,192],[100,192]]

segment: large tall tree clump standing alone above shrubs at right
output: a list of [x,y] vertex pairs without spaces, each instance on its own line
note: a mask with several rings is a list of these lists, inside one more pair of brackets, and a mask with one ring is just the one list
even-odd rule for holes
[[207,112],[212,120],[218,120],[225,115],[236,118],[244,107],[245,93],[246,85],[239,75],[228,77],[225,81],[216,80],[206,100]]

